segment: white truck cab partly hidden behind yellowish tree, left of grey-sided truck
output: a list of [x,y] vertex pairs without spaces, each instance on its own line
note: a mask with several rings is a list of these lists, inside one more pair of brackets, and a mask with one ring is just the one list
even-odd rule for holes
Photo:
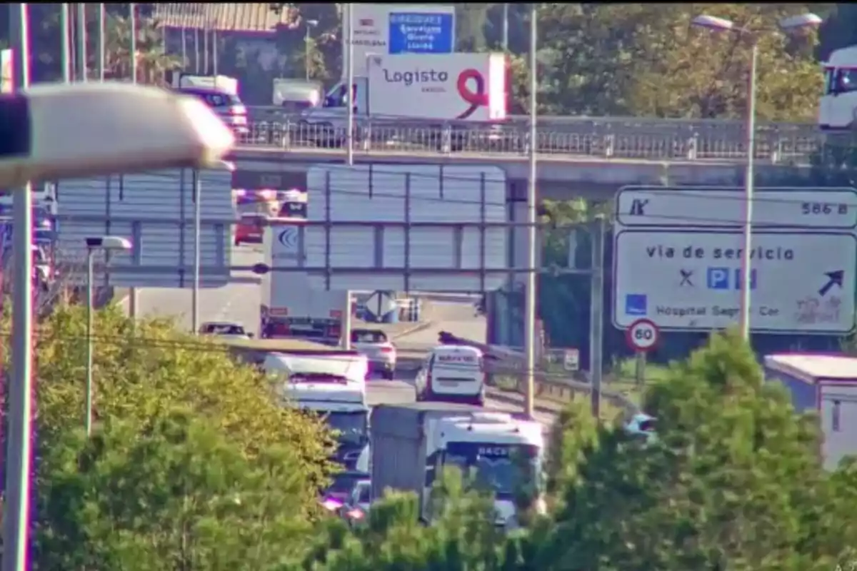
[[282,380],[281,396],[287,403],[327,420],[338,433],[334,460],[346,470],[356,469],[369,446],[366,356],[345,351],[326,356],[268,354],[262,370]]

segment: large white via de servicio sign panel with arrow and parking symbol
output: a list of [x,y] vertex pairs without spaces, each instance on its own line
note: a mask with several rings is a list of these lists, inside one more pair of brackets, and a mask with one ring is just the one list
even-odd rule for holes
[[[847,233],[752,237],[753,330],[854,329],[857,237]],[[614,325],[648,318],[662,330],[737,324],[740,232],[620,230],[614,238]]]

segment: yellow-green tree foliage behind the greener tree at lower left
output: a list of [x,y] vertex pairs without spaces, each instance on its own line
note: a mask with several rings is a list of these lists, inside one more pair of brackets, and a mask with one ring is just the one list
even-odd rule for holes
[[[222,431],[248,457],[288,445],[302,474],[314,483],[300,497],[304,511],[312,513],[317,486],[330,472],[326,459],[333,451],[321,421],[282,406],[276,387],[248,366],[237,365],[222,344],[179,333],[169,320],[132,325],[115,306],[96,314],[96,425],[112,419],[145,423],[176,409],[189,410]],[[39,324],[40,449],[83,424],[85,342],[85,311],[80,306],[59,306]]]

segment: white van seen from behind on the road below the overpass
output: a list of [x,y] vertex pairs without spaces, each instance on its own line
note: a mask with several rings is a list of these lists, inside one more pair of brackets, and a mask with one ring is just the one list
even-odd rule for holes
[[415,381],[417,401],[463,401],[485,404],[482,351],[462,345],[432,349]]

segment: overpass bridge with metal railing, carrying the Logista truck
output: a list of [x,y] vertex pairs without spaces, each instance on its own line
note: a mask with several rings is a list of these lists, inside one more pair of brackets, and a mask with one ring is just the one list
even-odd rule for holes
[[[510,201],[525,195],[530,141],[524,121],[500,128],[404,119],[356,124],[359,163],[494,164],[506,170]],[[289,117],[253,122],[233,153],[238,181],[249,188],[303,187],[310,164],[344,160],[343,149],[326,148],[335,136],[331,128]],[[605,200],[627,184],[740,185],[745,136],[743,124],[732,121],[546,118],[536,137],[539,193]],[[800,172],[822,142],[812,124],[759,125],[758,175]]]

